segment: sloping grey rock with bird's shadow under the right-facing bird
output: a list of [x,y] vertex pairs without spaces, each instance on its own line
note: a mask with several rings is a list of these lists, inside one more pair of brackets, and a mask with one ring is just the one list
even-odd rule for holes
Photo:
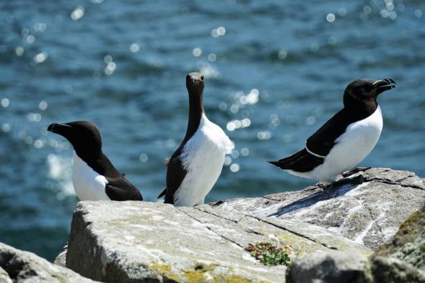
[[335,185],[236,198],[215,207],[311,223],[376,250],[424,204],[424,179],[408,171],[375,168],[349,175]]

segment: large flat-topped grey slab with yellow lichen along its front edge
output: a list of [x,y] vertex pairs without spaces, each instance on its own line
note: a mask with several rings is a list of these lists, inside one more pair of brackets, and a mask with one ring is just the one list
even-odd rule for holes
[[[249,243],[371,252],[308,223],[200,207],[147,202],[81,202],[74,211],[66,266],[103,282],[283,282],[285,266],[268,267]],[[84,260],[81,260],[84,259]]]

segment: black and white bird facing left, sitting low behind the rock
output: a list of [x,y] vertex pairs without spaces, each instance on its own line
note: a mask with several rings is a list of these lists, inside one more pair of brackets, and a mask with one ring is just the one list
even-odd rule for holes
[[80,200],[143,200],[140,191],[103,154],[101,133],[94,123],[52,123],[47,130],[65,137],[74,147],[72,182]]

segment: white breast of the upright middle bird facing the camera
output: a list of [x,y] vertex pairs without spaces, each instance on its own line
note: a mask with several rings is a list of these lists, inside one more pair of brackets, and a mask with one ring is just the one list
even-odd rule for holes
[[176,191],[174,205],[203,204],[205,196],[222,173],[224,156],[231,153],[233,148],[233,142],[222,128],[203,114],[197,132],[183,148],[181,158],[187,173]]

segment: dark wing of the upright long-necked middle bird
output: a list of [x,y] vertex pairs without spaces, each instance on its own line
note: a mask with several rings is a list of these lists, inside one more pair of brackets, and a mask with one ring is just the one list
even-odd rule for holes
[[167,187],[158,195],[158,198],[165,196],[165,203],[174,204],[174,194],[183,182],[186,173],[180,155],[172,157],[167,164]]

